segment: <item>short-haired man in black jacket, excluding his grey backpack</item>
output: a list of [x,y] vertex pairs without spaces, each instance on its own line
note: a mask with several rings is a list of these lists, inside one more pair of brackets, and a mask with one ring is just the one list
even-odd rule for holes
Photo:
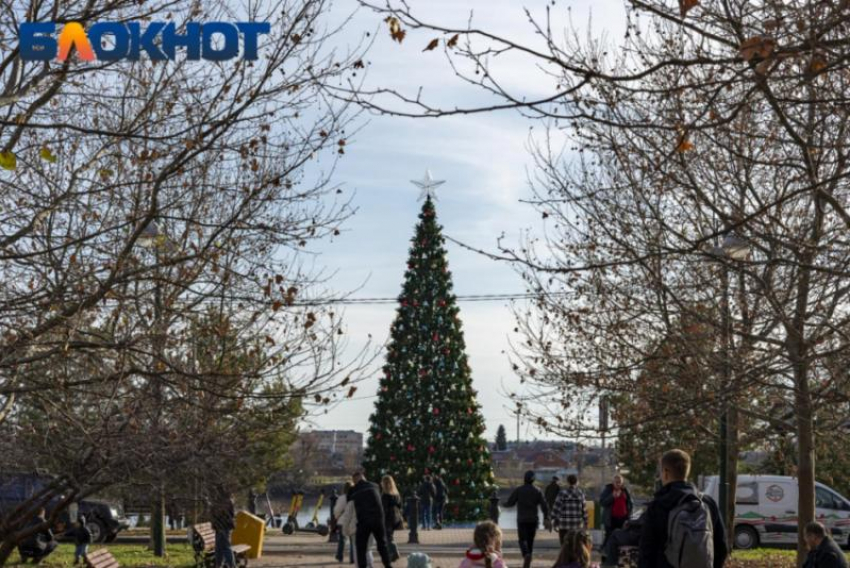
[[646,508],[646,522],[640,536],[638,568],[670,568],[664,555],[667,546],[667,525],[670,511],[688,495],[701,496],[711,513],[714,541],[714,568],[722,568],[726,562],[726,530],[717,510],[717,503],[701,495],[687,482],[691,471],[691,457],[682,450],[670,450],[661,457],[662,487]]

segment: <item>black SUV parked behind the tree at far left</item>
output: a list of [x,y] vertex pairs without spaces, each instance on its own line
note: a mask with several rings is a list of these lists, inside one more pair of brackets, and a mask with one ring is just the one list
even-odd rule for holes
[[[30,473],[0,473],[0,515],[11,511],[49,484],[47,475]],[[51,504],[47,505],[50,509]],[[86,516],[86,527],[93,542],[112,542],[118,533],[130,526],[121,510],[114,504],[93,499],[76,502],[78,514]],[[70,511],[64,511],[56,521],[55,530],[62,533],[71,523]],[[61,538],[61,534],[59,535]]]

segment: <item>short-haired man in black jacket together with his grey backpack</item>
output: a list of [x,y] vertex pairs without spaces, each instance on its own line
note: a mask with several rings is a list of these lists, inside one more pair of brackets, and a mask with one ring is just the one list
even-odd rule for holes
[[722,568],[726,530],[717,503],[688,483],[691,457],[669,450],[661,457],[661,489],[646,508],[638,568]]

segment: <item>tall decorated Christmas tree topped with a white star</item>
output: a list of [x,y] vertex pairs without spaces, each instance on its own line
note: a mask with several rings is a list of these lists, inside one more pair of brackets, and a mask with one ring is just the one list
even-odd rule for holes
[[484,422],[472,388],[463,332],[431,179],[415,182],[425,203],[390,332],[365,454],[367,473],[389,473],[405,494],[426,474],[449,489],[446,518],[486,513],[493,482]]

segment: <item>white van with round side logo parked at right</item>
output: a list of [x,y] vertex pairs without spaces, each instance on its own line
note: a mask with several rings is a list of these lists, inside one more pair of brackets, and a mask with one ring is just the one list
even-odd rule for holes
[[[704,479],[706,494],[717,500],[718,477]],[[850,546],[850,501],[823,483],[815,487],[815,515],[842,546]],[[797,478],[739,475],[735,494],[735,547],[797,544]]]

